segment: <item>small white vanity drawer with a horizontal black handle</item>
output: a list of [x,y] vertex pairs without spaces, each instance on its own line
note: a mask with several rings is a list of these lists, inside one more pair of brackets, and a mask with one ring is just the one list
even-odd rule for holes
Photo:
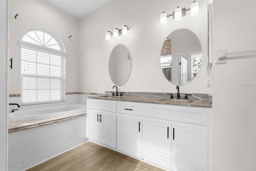
[[127,103],[127,102],[117,103],[118,113],[142,116],[143,115],[142,111],[143,111],[142,105],[139,105],[137,103]]

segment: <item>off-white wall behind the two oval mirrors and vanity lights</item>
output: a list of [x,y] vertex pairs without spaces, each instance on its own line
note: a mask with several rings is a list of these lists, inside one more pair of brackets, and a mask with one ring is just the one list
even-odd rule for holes
[[[207,52],[207,1],[200,1],[200,14],[190,12],[175,22],[168,17],[167,25],[160,25],[160,14],[172,14],[177,6],[190,8],[191,0],[134,0],[112,1],[80,19],[79,27],[79,91],[104,93],[114,85],[108,73],[108,59],[116,44],[124,44],[131,54],[132,70],[125,85],[118,91],[176,92],[162,73],[160,53],[165,38],[177,28],[188,28],[202,45],[203,64],[196,78],[180,87],[182,93],[210,93],[206,85]],[[127,25],[128,36],[105,40],[105,33]],[[109,82],[109,87],[106,83]]]

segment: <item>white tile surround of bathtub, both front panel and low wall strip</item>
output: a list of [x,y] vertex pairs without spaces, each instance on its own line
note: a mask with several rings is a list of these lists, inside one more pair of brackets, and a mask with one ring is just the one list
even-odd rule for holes
[[[78,104],[78,96],[66,95],[66,102],[21,106],[19,110],[53,105]],[[20,103],[20,97],[10,97],[10,103]],[[86,100],[81,101],[86,105]],[[17,106],[10,106],[10,108]],[[86,141],[86,112],[51,119],[9,121],[8,123],[8,170],[25,170]]]

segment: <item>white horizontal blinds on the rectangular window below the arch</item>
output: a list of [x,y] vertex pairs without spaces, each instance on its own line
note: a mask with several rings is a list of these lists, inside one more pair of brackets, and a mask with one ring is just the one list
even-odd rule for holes
[[22,104],[64,101],[65,68],[65,56],[22,47]]

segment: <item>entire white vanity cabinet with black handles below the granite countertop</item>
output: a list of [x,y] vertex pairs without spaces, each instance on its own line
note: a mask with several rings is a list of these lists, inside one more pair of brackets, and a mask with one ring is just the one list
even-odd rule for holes
[[87,137],[172,171],[209,171],[211,108],[87,100]]

